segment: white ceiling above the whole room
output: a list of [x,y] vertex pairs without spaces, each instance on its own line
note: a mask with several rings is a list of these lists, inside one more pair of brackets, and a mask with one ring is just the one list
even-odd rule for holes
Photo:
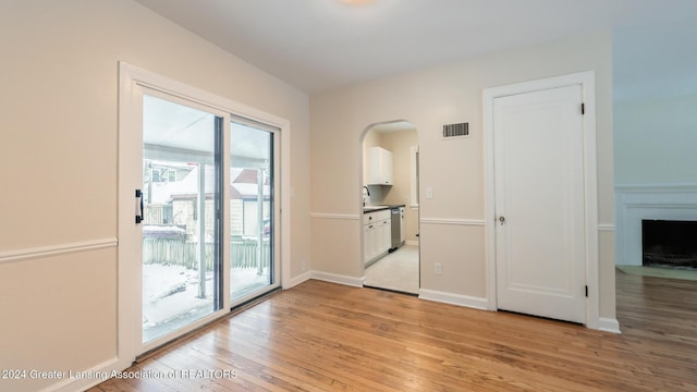
[[565,36],[697,15],[697,0],[137,1],[310,94]]

